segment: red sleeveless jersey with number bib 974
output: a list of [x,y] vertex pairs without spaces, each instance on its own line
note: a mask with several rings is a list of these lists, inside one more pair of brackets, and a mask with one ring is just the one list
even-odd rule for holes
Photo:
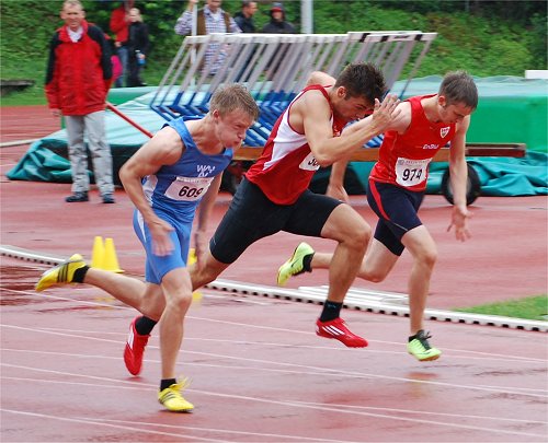
[[411,123],[403,135],[385,132],[379,160],[369,175],[370,179],[401,186],[410,190],[426,189],[429,164],[436,152],[455,136],[455,124],[433,123],[426,118],[421,100],[434,96],[411,97]]

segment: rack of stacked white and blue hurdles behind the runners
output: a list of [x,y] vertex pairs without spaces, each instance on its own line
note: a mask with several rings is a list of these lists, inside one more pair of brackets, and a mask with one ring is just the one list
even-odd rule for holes
[[[349,32],[346,34],[209,34],[185,37],[165,72],[150,107],[165,120],[202,117],[213,93],[222,84],[246,84],[261,116],[248,131],[244,145],[263,147],[274,123],[312,71],[338,77],[350,62],[373,62],[387,86],[406,71],[402,91],[415,74],[436,33],[420,31]],[[204,62],[214,48],[210,63]],[[212,74],[212,66],[221,60]],[[376,138],[369,147],[378,147]]]

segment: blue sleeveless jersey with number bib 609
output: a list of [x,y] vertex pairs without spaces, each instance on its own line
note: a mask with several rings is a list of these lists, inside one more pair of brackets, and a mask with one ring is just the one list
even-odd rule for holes
[[176,222],[192,222],[202,197],[213,179],[232,161],[233,151],[206,155],[196,147],[183,118],[164,125],[172,127],[185,145],[175,164],[162,166],[142,179],[142,189],[155,212],[163,212]]

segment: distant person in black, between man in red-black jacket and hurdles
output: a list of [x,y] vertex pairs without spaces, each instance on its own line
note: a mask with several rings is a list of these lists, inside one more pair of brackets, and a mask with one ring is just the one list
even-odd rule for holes
[[146,86],[141,80],[140,73],[145,67],[150,48],[148,39],[148,26],[142,23],[142,16],[137,8],[129,10],[129,33],[127,38],[127,50],[129,53],[129,78],[127,85],[129,88]]

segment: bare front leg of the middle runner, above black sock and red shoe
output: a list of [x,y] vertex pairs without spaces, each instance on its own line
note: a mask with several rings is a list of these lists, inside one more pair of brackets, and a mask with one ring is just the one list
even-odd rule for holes
[[349,205],[339,205],[329,215],[321,236],[339,242],[329,266],[329,301],[344,301],[359,270],[370,235],[370,226]]

